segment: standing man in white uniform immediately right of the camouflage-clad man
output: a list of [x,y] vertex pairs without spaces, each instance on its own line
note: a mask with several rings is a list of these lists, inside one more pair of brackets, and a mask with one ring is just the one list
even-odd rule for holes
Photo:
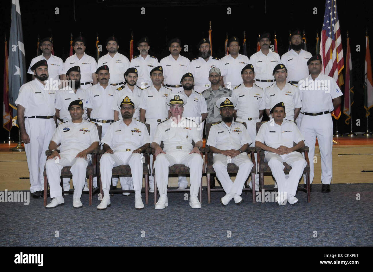
[[[245,122],[250,139],[256,137],[256,123],[264,113],[264,90],[258,87],[255,82],[255,71],[252,64],[246,65],[241,70],[242,84],[232,91],[232,98],[237,101],[234,116],[237,122]],[[255,154],[257,161],[257,154]],[[251,181],[249,184],[250,188]],[[259,191],[259,174],[255,174],[255,189]]]

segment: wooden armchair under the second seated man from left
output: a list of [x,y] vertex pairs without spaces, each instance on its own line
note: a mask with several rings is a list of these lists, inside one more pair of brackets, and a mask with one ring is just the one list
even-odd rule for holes
[[[150,133],[150,124],[145,124],[145,125],[146,125],[146,128],[148,129],[148,132]],[[100,193],[101,193],[102,196],[104,195],[104,193],[103,193],[103,190],[102,190],[100,163],[99,162],[100,162],[101,156],[104,153],[105,153],[105,150],[103,150],[103,149],[101,149],[97,153],[97,156],[98,156],[98,159],[97,159],[97,162],[98,162],[97,173],[98,174],[97,175],[100,176]],[[141,190],[141,192],[145,191],[145,204],[148,204],[148,199],[149,199],[150,148],[148,148],[144,152],[144,158],[146,159],[146,161],[142,164],[142,177],[145,178],[145,188],[144,188],[144,190]],[[132,177],[131,167],[129,167],[129,165],[119,165],[119,166],[113,167],[112,177],[117,177],[117,178]],[[116,190],[116,191],[111,190],[111,191],[109,191],[110,194],[122,193],[122,192],[133,192],[134,193],[135,190]]]

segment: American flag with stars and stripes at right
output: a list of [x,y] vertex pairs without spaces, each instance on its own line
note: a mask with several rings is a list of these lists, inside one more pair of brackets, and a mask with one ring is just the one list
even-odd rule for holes
[[[323,61],[322,71],[324,74],[334,78],[337,84],[341,86],[343,84],[343,77],[342,80],[338,80],[338,76],[344,68],[344,59],[336,0],[326,0],[325,3],[324,23],[320,42],[320,55]],[[339,106],[334,112],[336,119],[338,119],[340,115],[341,106]]]

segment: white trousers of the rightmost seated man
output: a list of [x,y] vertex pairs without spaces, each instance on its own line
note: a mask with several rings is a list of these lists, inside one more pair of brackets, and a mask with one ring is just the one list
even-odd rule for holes
[[[299,179],[302,177],[304,167],[307,165],[302,154],[297,151],[284,155],[268,152],[264,157],[264,160],[268,162],[272,175],[276,179],[278,191],[295,195],[297,193]],[[286,178],[285,173],[283,172],[283,169],[285,168],[283,162],[286,162],[292,167],[288,178]]]

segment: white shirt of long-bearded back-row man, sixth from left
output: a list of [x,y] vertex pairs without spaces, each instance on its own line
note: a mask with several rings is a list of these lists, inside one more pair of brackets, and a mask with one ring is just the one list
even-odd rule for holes
[[210,56],[208,61],[205,61],[201,57],[192,59],[188,72],[191,72],[194,76],[194,90],[198,93],[202,93],[202,91],[211,86],[211,82],[209,81],[209,71],[211,68],[219,68],[221,76],[225,75],[224,67],[218,58]]

